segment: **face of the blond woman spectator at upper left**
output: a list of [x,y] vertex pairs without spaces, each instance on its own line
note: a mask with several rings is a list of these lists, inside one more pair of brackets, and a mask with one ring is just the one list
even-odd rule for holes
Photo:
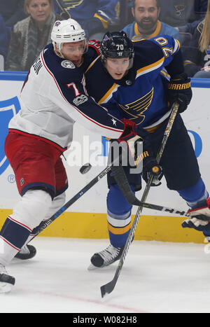
[[38,23],[45,22],[51,11],[49,0],[31,0],[27,6],[27,12]]

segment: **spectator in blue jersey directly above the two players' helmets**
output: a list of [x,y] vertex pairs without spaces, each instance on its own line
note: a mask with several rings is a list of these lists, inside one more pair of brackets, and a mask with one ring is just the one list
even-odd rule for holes
[[119,24],[120,0],[54,0],[54,8],[65,19],[69,13],[85,29],[87,39],[102,41],[111,25]]

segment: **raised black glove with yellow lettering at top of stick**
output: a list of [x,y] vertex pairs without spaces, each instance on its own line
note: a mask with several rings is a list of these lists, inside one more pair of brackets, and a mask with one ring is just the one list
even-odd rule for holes
[[173,76],[168,85],[168,102],[172,106],[174,102],[179,103],[179,113],[188,108],[192,99],[190,78],[186,73]]

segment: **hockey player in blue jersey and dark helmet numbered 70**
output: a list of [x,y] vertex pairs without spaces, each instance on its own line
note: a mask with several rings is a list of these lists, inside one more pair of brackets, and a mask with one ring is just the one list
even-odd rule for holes
[[[183,227],[202,230],[208,235],[209,194],[200,175],[193,145],[180,113],[192,97],[190,79],[183,72],[179,41],[172,36],[157,36],[151,40],[130,41],[125,32],[107,33],[102,41],[100,57],[87,69],[87,92],[98,104],[106,105],[119,119],[130,119],[150,134],[155,156],[160,147],[173,102],[179,103],[172,132],[160,160],[167,187],[176,190],[197,216],[184,221]],[[167,69],[170,81],[160,74]],[[145,160],[145,159],[144,159]],[[140,174],[131,174],[125,167],[133,192],[141,189]],[[143,177],[148,180],[151,167],[144,164]],[[160,185],[155,176],[153,186]],[[108,176],[107,220],[110,245],[91,258],[92,265],[104,267],[120,258],[130,232],[132,206],[123,197],[111,174]],[[203,208],[204,207],[204,208]]]

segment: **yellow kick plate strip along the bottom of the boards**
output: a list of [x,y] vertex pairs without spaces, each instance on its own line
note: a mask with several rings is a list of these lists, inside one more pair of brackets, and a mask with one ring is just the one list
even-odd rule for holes
[[[12,210],[0,210],[0,227],[6,216],[11,213]],[[133,219],[134,215],[132,215]],[[181,228],[182,221],[181,217],[142,215],[135,232],[135,239],[203,243],[202,233]],[[65,212],[41,232],[40,236],[106,239],[109,237],[106,214]]]

